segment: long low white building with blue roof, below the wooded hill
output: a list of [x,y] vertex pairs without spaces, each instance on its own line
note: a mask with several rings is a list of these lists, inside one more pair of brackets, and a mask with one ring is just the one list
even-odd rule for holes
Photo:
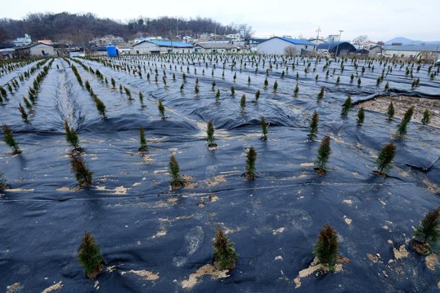
[[193,45],[172,40],[142,40],[133,45],[134,54],[188,54],[193,51]]

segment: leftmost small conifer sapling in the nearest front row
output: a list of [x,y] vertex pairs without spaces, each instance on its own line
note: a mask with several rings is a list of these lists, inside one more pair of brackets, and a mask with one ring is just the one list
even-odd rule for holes
[[95,238],[89,232],[84,233],[83,241],[78,248],[78,261],[84,268],[85,275],[89,279],[95,279],[104,268],[99,246]]

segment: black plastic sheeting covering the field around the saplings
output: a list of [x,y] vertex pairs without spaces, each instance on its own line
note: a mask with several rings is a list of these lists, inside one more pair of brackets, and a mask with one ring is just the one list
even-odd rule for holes
[[[440,266],[412,250],[410,239],[440,205],[438,124],[423,125],[416,115],[398,137],[406,108],[388,119],[384,107],[366,106],[363,123],[357,120],[360,106],[374,97],[405,96],[405,106],[417,97],[416,112],[428,109],[438,122],[439,109],[423,101],[440,99],[439,67],[418,66],[176,54],[33,60],[4,71],[0,124],[12,130],[21,154],[12,154],[2,132],[1,290],[42,292],[54,284],[60,292],[437,290]],[[41,73],[27,107],[23,97],[30,99]],[[349,95],[353,108],[344,117]],[[315,110],[318,134],[311,139]],[[65,121],[83,152],[72,155]],[[325,136],[331,155],[321,176],[314,167]],[[377,176],[377,154],[391,141],[393,168]],[[250,147],[257,152],[254,180],[245,176]],[[171,154],[184,180],[180,189],[170,187]],[[78,187],[72,156],[93,173],[91,187]],[[338,231],[344,263],[332,274],[299,274],[314,260],[325,224]],[[200,270],[212,263],[216,227],[239,255],[229,272]],[[94,281],[77,259],[85,231],[105,263]]]

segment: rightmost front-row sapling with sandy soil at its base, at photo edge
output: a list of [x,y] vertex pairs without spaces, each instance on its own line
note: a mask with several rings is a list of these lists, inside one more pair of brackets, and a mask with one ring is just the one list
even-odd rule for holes
[[439,217],[439,209],[426,213],[425,218],[414,231],[415,239],[412,240],[412,247],[421,255],[428,254],[431,247],[437,248],[437,242],[440,240]]

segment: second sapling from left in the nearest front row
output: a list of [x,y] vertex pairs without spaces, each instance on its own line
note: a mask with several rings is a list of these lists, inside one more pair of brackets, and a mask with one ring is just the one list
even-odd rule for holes
[[214,267],[217,270],[232,270],[239,259],[235,253],[234,243],[219,228],[215,228]]

